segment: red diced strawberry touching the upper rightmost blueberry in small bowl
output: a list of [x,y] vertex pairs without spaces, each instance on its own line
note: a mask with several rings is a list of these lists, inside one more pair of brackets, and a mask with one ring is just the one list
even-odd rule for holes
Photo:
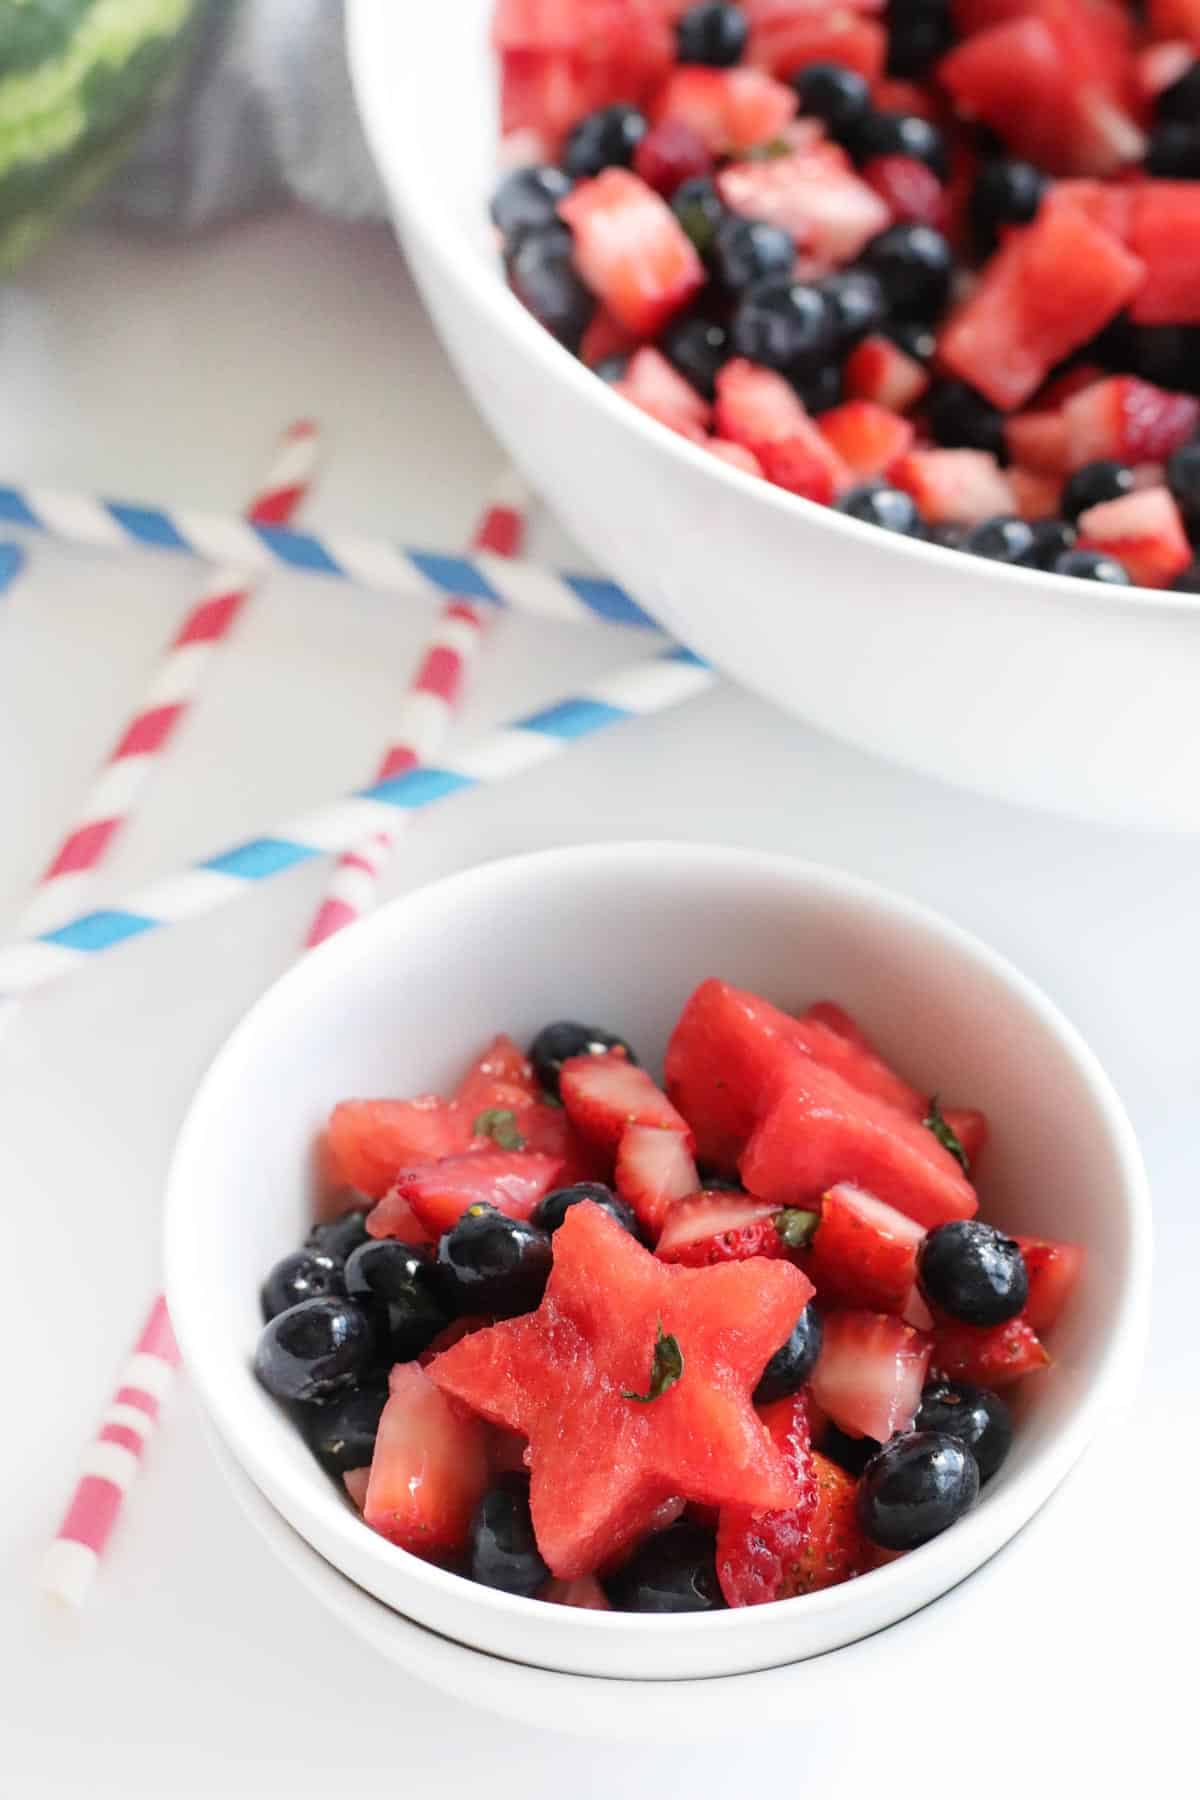
[[820,1202],[804,1269],[822,1307],[903,1314],[923,1238],[914,1219],[840,1183]]

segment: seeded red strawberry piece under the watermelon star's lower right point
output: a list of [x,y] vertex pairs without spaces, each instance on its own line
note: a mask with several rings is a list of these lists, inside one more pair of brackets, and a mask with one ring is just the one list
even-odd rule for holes
[[774,1400],[761,1409],[759,1418],[795,1476],[801,1499],[783,1512],[721,1507],[716,1528],[716,1579],[729,1606],[761,1606],[765,1600],[786,1600],[801,1591],[793,1586],[792,1566],[806,1552],[817,1510],[817,1478],[804,1395],[793,1393]]

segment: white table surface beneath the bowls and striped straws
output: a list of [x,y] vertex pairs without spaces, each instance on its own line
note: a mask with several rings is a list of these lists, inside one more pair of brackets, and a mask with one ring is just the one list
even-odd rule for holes
[[[273,432],[327,430],[315,522],[453,545],[498,455],[389,238],[290,216],[187,247],[81,236],[0,293],[0,481],[232,508]],[[545,526],[536,545],[567,545]],[[0,902],[16,911],[194,590],[169,558],[49,544],[0,608]],[[112,889],[360,779],[428,612],[275,578],[214,673]],[[637,653],[509,621],[468,722]],[[236,1510],[180,1382],[86,1613],[32,1586],[72,1463],[158,1264],[173,1132],[207,1057],[291,956],[320,873],[43,992],[0,1037],[4,1507],[0,1789],[49,1795],[592,1796],[1187,1786],[1198,1598],[1200,846],[1036,817],[907,776],[732,689],[423,819],[389,891],[506,851],[675,835],[772,846],[892,884],[1038,979],[1106,1062],[1157,1208],[1153,1343],[1126,1429],[973,1584],[972,1636],[921,1690],[878,1679],[801,1735],[579,1746],[372,1660]],[[961,1615],[959,1615],[961,1616]],[[786,1787],[784,1787],[786,1784]],[[1110,1791],[1110,1789],[1103,1789]]]

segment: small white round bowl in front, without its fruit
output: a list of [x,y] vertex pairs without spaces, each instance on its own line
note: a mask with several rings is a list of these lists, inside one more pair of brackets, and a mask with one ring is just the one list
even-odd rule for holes
[[[705,1616],[588,1613],[479,1588],[367,1530],[257,1386],[257,1289],[311,1208],[335,1102],[453,1082],[491,1033],[585,1017],[653,1064],[689,990],[725,976],[783,1004],[829,995],[912,1078],[993,1121],[988,1217],[1087,1246],[1016,1400],[1015,1449],[954,1530],[842,1588]],[[423,1625],[543,1669],[727,1676],[851,1643],[984,1562],[1063,1478],[1141,1354],[1144,1174],[1087,1046],[1016,970],[945,920],[786,857],[696,844],[556,850],[455,875],[299,963],[205,1076],[167,1192],[167,1296],[203,1406],[295,1530]]]

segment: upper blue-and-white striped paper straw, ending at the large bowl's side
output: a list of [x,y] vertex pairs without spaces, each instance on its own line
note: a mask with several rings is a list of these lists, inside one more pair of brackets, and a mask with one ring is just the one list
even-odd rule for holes
[[54,488],[0,486],[0,524],[45,531],[92,549],[157,549],[261,572],[291,569],[335,576],[380,592],[425,599],[480,599],[543,619],[635,625],[658,630],[624,589],[603,576],[569,574],[536,562],[477,551],[457,556],[349,531],[295,531],[223,513],[193,513],[130,500],[101,500]]

